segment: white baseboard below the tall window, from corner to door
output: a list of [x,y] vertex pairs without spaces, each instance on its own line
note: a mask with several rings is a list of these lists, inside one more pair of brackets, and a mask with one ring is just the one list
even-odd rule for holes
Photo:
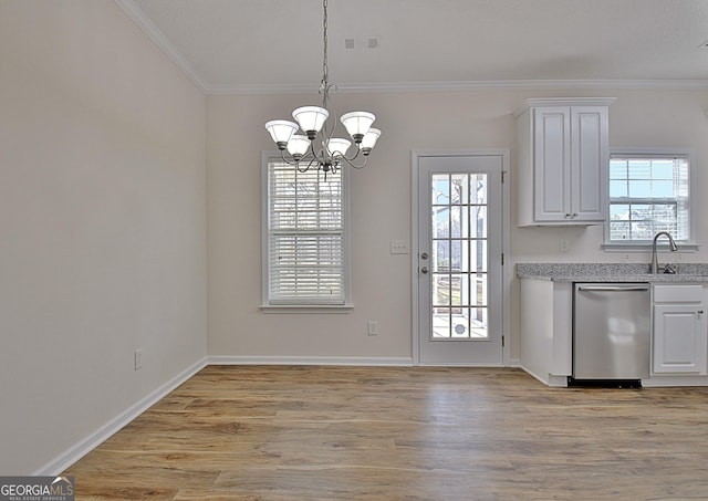
[[210,356],[209,365],[358,365],[405,366],[413,365],[408,357],[348,357],[348,356]]

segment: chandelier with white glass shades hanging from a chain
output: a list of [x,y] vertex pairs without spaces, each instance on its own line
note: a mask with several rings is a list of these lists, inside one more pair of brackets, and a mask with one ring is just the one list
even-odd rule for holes
[[[266,129],[278,145],[287,164],[294,165],[301,173],[316,167],[324,173],[326,179],[327,173],[335,173],[343,163],[357,169],[365,167],[381,131],[372,127],[376,118],[373,113],[350,112],[342,115],[340,121],[355,144],[354,152],[347,154],[352,140],[334,137],[336,114],[330,105],[330,91],[336,90],[336,85],[330,83],[327,66],[327,0],[323,0],[322,7],[324,56],[319,91],[322,95],[322,106],[299,107],[292,112],[296,123],[271,121],[266,124]],[[327,122],[330,117],[333,118],[332,122]],[[301,133],[296,134],[299,131]]]

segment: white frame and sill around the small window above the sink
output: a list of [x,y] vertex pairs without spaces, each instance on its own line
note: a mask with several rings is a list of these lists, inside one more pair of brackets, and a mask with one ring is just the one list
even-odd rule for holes
[[[696,252],[698,250],[698,236],[697,236],[697,196],[696,196],[696,152],[694,148],[662,148],[662,147],[631,147],[631,148],[611,148],[610,158],[607,160],[606,169],[610,170],[610,161],[613,156],[656,156],[656,157],[675,157],[685,156],[688,158],[688,240],[677,240],[679,252]],[[652,251],[652,240],[634,240],[629,242],[616,242],[610,240],[610,215],[611,210],[611,197],[610,197],[610,176],[607,176],[607,220],[603,225],[604,241],[602,249],[607,252],[627,252],[627,251]],[[662,244],[665,242],[662,241]]]

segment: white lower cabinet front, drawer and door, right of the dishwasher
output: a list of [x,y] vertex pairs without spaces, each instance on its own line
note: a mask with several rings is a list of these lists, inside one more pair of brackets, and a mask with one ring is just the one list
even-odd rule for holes
[[702,285],[654,285],[653,374],[705,375],[708,324]]

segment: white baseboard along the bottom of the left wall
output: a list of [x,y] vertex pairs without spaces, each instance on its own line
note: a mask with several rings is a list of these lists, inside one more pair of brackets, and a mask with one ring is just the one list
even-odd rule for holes
[[121,413],[106,425],[102,426],[96,432],[72,446],[69,450],[60,455],[54,460],[48,462],[32,474],[41,477],[54,477],[60,474],[206,366],[207,357],[173,377],[140,401],[129,407],[124,413]]

